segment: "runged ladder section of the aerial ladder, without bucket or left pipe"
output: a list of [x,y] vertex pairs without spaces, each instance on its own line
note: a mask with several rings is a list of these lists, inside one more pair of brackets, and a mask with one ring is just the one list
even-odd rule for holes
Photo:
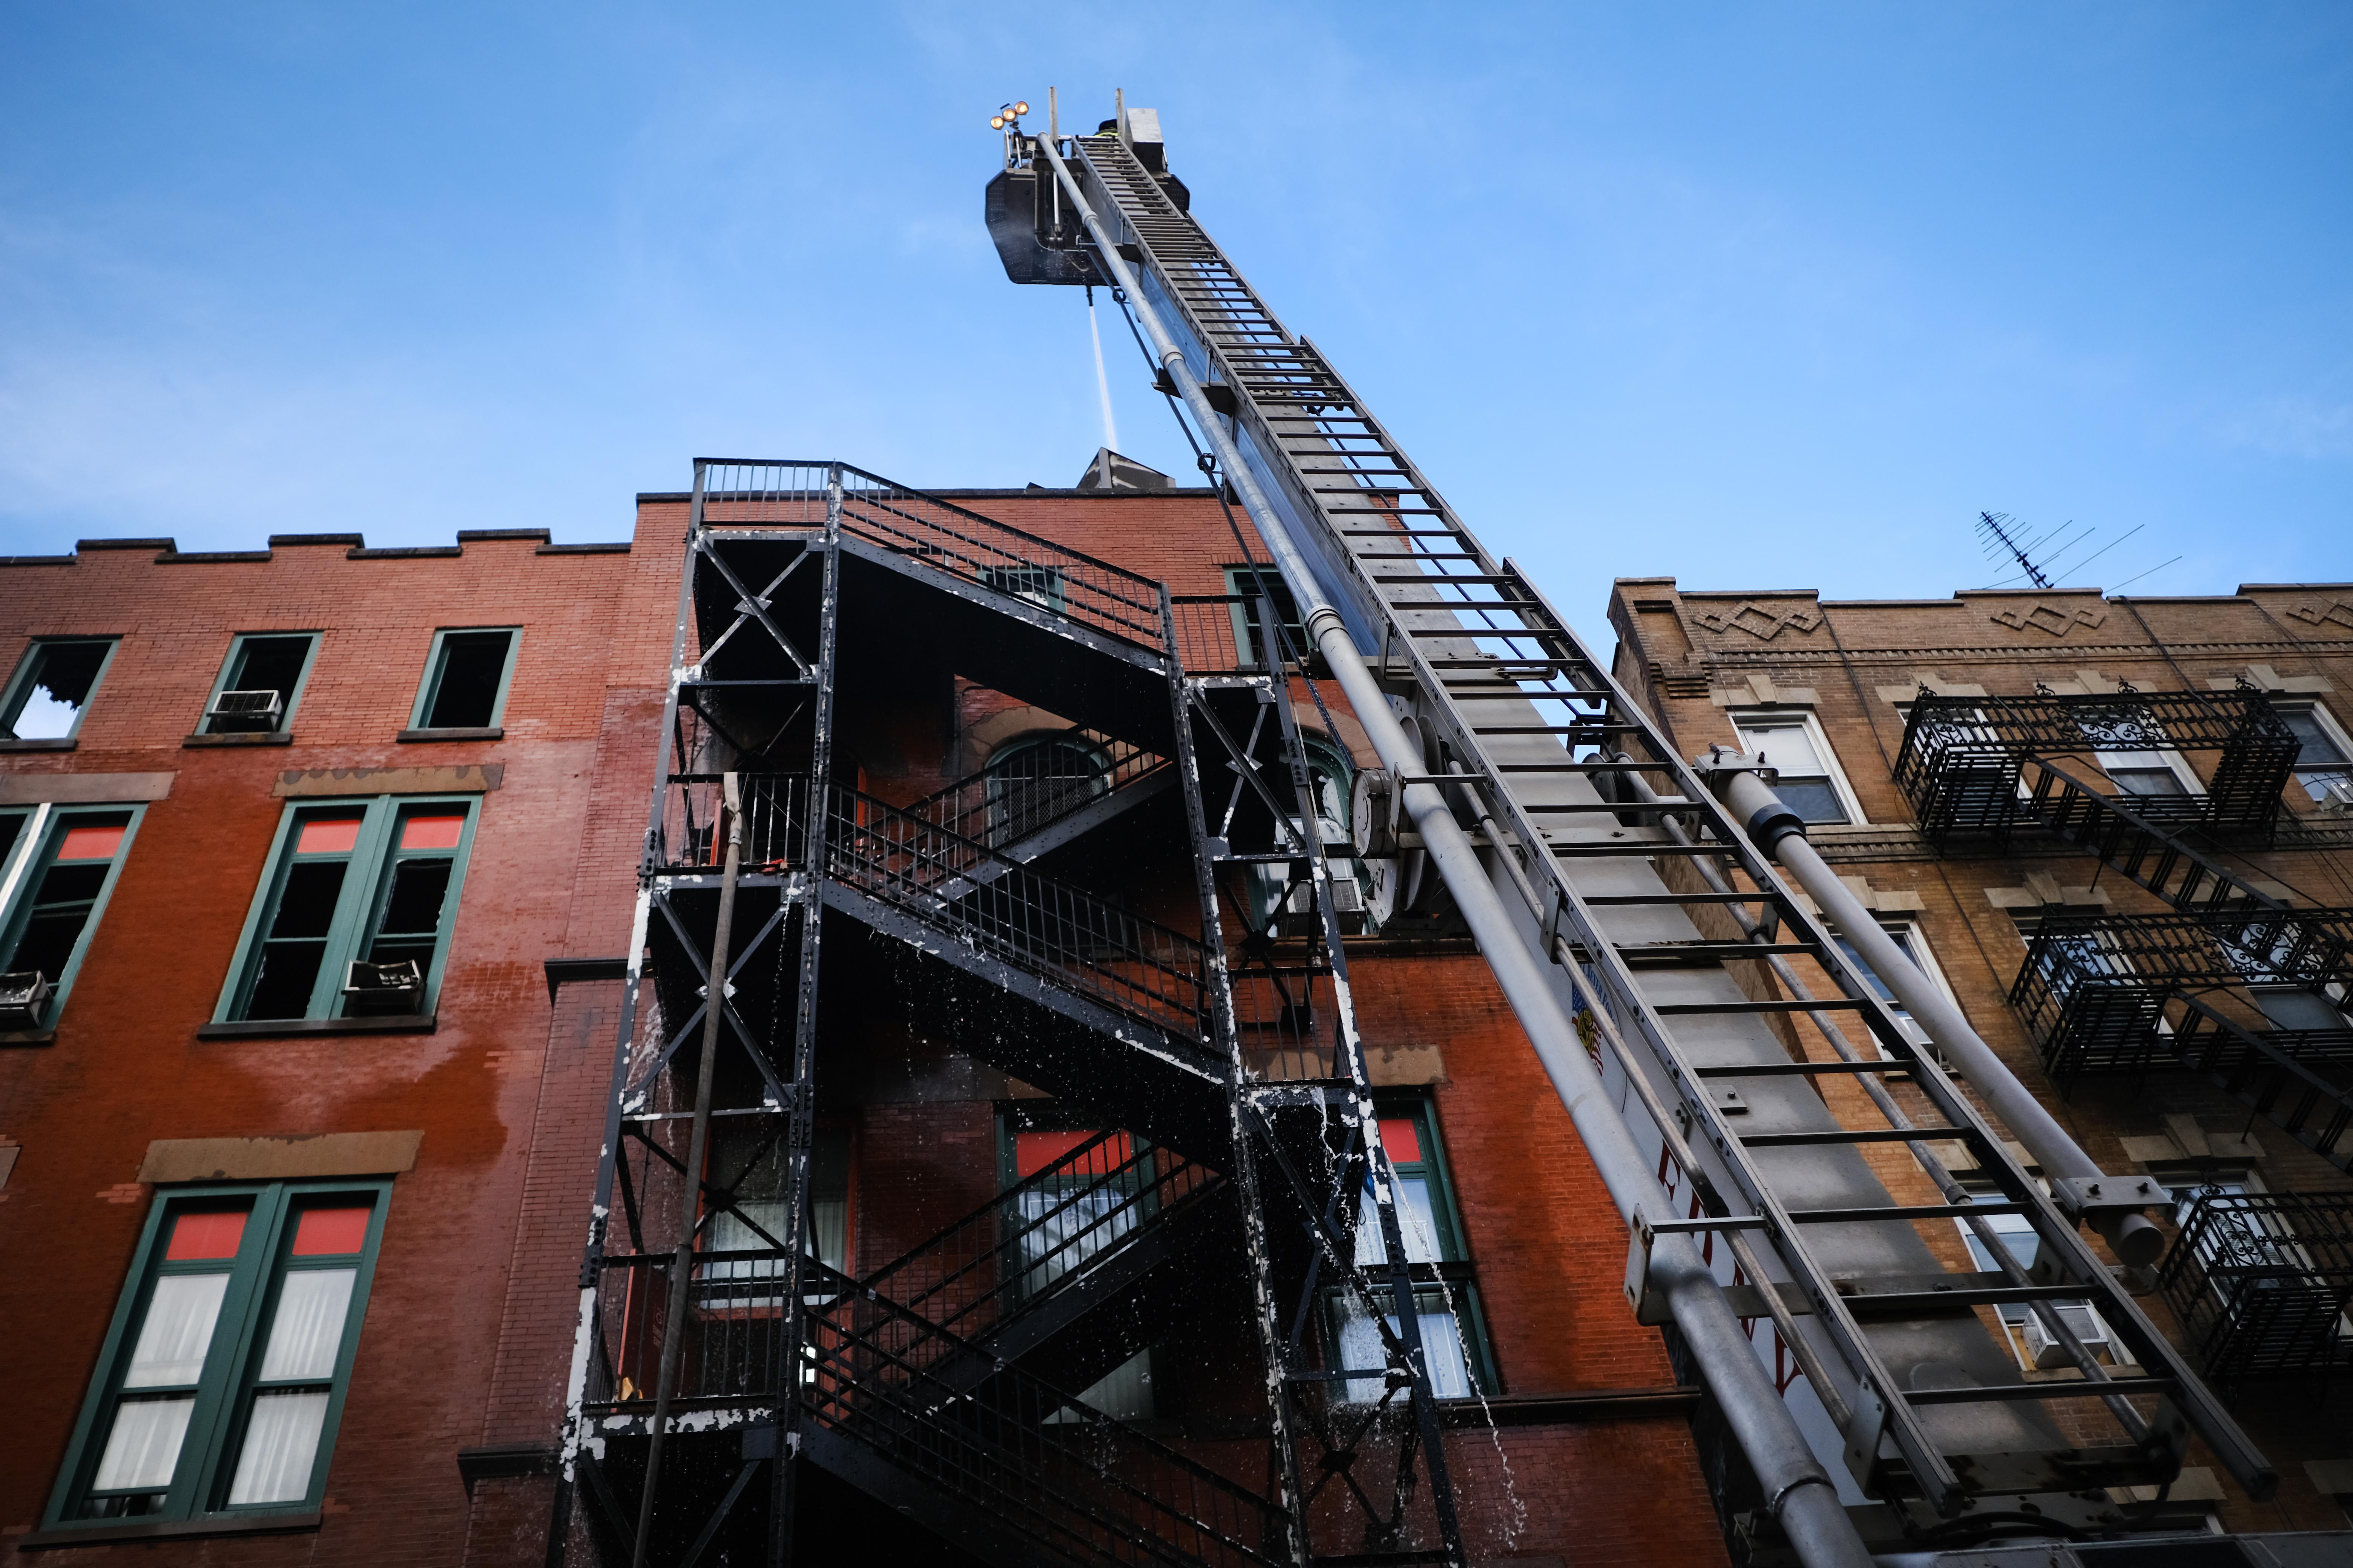
[[[1386,799],[1438,783],[1475,825],[1487,877],[1579,1018],[1628,1133],[1659,1152],[1673,1194],[1640,1206],[1628,1288],[1652,1237],[1718,1234],[1718,1276],[1774,1319],[1772,1333],[1753,1324],[1758,1354],[1798,1359],[1791,1413],[1833,1474],[1852,1472],[1854,1495],[1953,1514],[1998,1493],[2162,1483],[2184,1427],[2268,1495],[2275,1476],[2219,1401],[1544,595],[1473,538],[1118,136],[1059,153],[1136,268],[1136,303],[1207,402],[1231,409],[1247,489],[1280,512],[1261,531],[1311,557],[1419,736],[1426,773],[1386,780]],[[1035,160],[1049,162],[1042,146]],[[1125,270],[1092,259],[1101,277]],[[1793,959],[1828,994],[1793,990]],[[1953,1143],[1969,1152],[1967,1190],[1939,1152]],[[1911,1164],[1889,1166],[1892,1150]],[[1991,1267],[1967,1262],[1955,1218]],[[2031,1276],[1993,1218],[2033,1232]],[[2026,1380],[2012,1328],[1972,1309],[2021,1293],[2080,1380]],[[2073,1333],[2078,1309],[2111,1328],[2113,1359]]]

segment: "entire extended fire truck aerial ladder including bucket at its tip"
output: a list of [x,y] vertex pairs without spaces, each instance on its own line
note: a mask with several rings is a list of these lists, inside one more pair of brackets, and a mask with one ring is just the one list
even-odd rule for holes
[[[2162,1528],[2104,1488],[2165,1488],[2193,1434],[2271,1495],[2261,1453],[2078,1232],[2146,1265],[2162,1192],[2101,1173],[1927,987],[1767,759],[1671,750],[1188,207],[1151,110],[1080,136],[1005,115],[988,221],[1007,273],[1115,289],[1247,508],[1304,654],[1384,764],[1353,851],[1424,858],[1478,938],[1628,1225],[1631,1305],[1673,1326],[1708,1392],[1727,1528],[1805,1563],[2005,1519]],[[2021,1373],[2005,1312],[2059,1375]]]

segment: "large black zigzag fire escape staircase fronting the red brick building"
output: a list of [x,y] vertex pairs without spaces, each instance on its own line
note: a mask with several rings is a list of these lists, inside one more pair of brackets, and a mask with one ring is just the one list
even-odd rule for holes
[[[784,1561],[812,1467],[988,1563],[1461,1561],[1278,646],[1266,599],[842,463],[696,463],[551,1563]],[[1101,766],[854,788],[835,712],[951,672]],[[1087,886],[1151,844],[1191,931]],[[1242,867],[1304,917],[1252,931]],[[859,1274],[816,1255],[816,1110],[878,997],[1118,1131]],[[1179,1274],[1249,1281],[1240,1469],[1078,1394]],[[1379,1366],[1332,1361],[1334,1298]]]

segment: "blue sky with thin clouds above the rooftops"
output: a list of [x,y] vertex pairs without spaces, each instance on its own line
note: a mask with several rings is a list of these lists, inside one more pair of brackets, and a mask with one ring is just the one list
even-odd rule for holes
[[696,454],[1068,484],[1085,308],[981,228],[1047,85],[1160,108],[1588,635],[1621,574],[1984,585],[1979,508],[2141,529],[2066,581],[2353,578],[2353,7],[2245,0],[0,0],[0,550],[616,538]]

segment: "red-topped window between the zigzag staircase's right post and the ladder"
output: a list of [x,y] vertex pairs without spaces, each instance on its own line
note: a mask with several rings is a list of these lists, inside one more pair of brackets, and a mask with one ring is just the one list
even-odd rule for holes
[[[1438,1143],[1438,1112],[1428,1095],[1381,1095],[1377,1110],[1381,1147],[1388,1150],[1388,1161],[1398,1171],[1398,1197],[1402,1199],[1398,1229],[1405,1234],[1405,1260],[1414,1279],[1414,1316],[1421,1319],[1431,1392],[1438,1399],[1494,1394],[1501,1382],[1494,1375],[1487,1326],[1480,1316],[1471,1248],[1464,1241],[1461,1211],[1454,1206],[1454,1182]],[[1367,1269],[1388,1267],[1388,1246],[1381,1239],[1369,1180],[1358,1211],[1355,1260]],[[1384,1366],[1381,1331],[1372,1324],[1365,1305],[1346,1291],[1332,1291],[1325,1302],[1329,1366],[1379,1371]],[[1395,1314],[1388,1314],[1388,1326],[1398,1328]],[[1381,1378],[1351,1378],[1341,1387],[1346,1389],[1341,1399],[1348,1401],[1372,1403],[1381,1396]]]

